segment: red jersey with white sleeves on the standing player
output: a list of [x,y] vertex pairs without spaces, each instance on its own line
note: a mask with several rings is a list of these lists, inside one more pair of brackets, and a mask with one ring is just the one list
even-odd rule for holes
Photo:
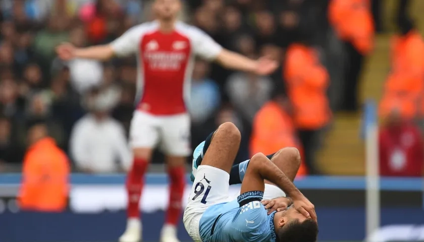
[[117,56],[137,54],[137,109],[154,115],[186,112],[196,55],[214,60],[222,47],[182,22],[162,33],[157,21],[132,27],[112,42]]

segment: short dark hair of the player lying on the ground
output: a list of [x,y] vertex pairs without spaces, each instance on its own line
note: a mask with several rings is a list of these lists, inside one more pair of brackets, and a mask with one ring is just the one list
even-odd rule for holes
[[295,220],[285,225],[278,232],[280,242],[315,242],[318,235],[318,224],[312,219],[303,222]]

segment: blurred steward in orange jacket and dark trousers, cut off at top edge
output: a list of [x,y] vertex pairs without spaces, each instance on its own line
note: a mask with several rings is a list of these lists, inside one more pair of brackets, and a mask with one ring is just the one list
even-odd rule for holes
[[358,87],[365,56],[374,47],[374,21],[370,1],[331,0],[329,20],[347,53],[343,105],[345,111],[358,110]]

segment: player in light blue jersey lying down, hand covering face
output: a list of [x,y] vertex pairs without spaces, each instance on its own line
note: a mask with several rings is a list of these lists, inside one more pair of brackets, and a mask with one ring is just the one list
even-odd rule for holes
[[[197,158],[193,159],[196,163],[193,164],[194,183],[184,211],[184,225],[194,241],[316,240],[314,206],[292,183],[300,161],[297,151],[282,149],[273,155],[272,161],[258,153],[233,167],[240,132],[231,123],[221,125],[210,135],[209,143],[205,141],[208,147],[206,152],[200,153],[200,164]],[[232,200],[229,186],[236,184],[237,179],[242,184],[241,195]],[[284,196],[281,190],[292,199],[293,205],[286,210],[267,212],[260,201]],[[280,198],[264,203],[272,210],[285,203],[289,205]]]

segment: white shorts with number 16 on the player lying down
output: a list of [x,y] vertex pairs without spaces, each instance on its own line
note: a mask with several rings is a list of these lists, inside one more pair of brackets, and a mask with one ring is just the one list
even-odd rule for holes
[[[203,213],[210,206],[230,202],[237,198],[229,194],[230,174],[219,168],[200,165],[190,191],[187,206],[184,210],[184,226],[195,241],[200,241],[199,222]],[[286,194],[274,185],[265,184],[263,199],[285,197]]]

